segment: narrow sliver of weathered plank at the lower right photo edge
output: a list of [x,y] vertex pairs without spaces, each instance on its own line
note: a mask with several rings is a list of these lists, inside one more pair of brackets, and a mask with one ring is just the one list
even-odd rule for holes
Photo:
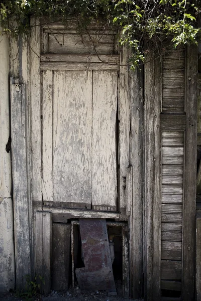
[[196,218],[196,297],[201,299],[201,217]]

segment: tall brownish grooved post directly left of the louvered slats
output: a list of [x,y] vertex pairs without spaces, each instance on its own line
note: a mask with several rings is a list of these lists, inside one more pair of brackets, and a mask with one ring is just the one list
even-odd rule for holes
[[145,299],[160,300],[161,261],[161,62],[149,55],[145,63],[144,250]]

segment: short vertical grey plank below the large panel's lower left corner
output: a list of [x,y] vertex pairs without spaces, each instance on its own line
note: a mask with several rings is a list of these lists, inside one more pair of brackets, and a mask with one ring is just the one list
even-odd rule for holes
[[42,258],[42,276],[44,283],[42,285],[43,293],[50,293],[51,288],[51,243],[52,243],[52,220],[51,213],[43,213],[43,258]]

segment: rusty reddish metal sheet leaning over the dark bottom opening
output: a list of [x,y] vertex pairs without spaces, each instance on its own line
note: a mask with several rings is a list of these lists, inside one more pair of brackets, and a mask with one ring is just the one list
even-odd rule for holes
[[105,219],[80,219],[85,267],[75,270],[81,289],[116,292]]

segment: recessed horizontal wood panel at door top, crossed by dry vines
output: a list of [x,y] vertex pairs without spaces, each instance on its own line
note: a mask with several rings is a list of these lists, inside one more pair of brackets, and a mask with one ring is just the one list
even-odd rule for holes
[[98,54],[113,54],[114,35],[78,35],[78,34],[49,34],[48,49],[50,53],[57,54],[91,54],[94,45]]

